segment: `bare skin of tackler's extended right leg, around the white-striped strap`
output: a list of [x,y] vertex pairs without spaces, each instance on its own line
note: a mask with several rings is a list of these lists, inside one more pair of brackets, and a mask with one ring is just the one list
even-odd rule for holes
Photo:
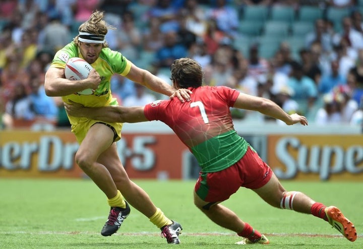
[[[281,185],[275,174],[272,174],[271,179],[262,188],[255,191],[265,202],[273,207],[280,208],[281,200],[286,193],[286,190]],[[310,197],[301,193],[295,192],[292,208],[296,212],[311,214],[311,207],[315,203]]]

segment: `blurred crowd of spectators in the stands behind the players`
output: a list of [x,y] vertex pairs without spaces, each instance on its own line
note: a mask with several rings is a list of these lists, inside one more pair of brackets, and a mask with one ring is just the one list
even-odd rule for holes
[[[307,6],[322,15],[304,20],[313,29],[293,37],[293,23],[301,21],[301,10]],[[253,7],[268,11],[263,25],[275,9],[293,10],[292,19],[284,20],[289,24],[286,37],[273,37],[266,25],[254,35],[241,30]],[[111,49],[170,84],[172,61],[191,57],[203,67],[205,85],[272,99],[286,112],[306,115],[319,125],[362,123],[363,1],[4,0],[0,2],[0,129],[70,126],[62,99],[45,95],[44,74],[55,52],[72,41],[94,10],[104,11],[106,21],[116,27],[106,35]],[[336,18],[330,10],[346,13]],[[271,54],[264,53],[264,35],[268,48],[272,40],[281,38]],[[111,90],[126,106],[167,98],[118,75],[112,78]],[[277,122],[233,108],[232,115]]]

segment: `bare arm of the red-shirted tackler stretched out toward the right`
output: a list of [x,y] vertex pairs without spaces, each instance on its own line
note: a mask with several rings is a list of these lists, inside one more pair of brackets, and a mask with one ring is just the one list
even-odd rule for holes
[[284,121],[288,126],[294,125],[295,123],[301,123],[303,126],[308,125],[308,120],[305,116],[300,116],[296,113],[289,115],[275,102],[266,98],[240,93],[233,107],[259,111],[262,114]]

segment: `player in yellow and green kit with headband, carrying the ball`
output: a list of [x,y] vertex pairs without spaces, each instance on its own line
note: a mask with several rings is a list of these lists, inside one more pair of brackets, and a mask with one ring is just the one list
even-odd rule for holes
[[[114,28],[104,21],[103,12],[98,11],[80,25],[79,34],[71,43],[56,52],[46,72],[44,85],[48,96],[62,96],[66,103],[71,100],[88,107],[117,105],[116,99],[111,95],[110,79],[113,74],[120,74],[170,98],[177,97],[182,102],[190,100],[191,91],[174,89],[150,72],[136,67],[119,52],[109,49],[104,39],[108,29]],[[72,57],[83,58],[93,67],[87,79],[66,79],[65,65]],[[93,94],[78,93],[89,88],[93,89]],[[182,229],[180,224],[168,219],[156,208],[148,194],[130,180],[118,157],[115,142],[121,137],[123,124],[68,117],[72,132],[80,143],[75,156],[76,162],[103,191],[110,206],[108,220],[101,234],[110,236],[119,229],[130,214],[130,204],[161,229],[161,234],[168,243],[178,244],[178,235]]]

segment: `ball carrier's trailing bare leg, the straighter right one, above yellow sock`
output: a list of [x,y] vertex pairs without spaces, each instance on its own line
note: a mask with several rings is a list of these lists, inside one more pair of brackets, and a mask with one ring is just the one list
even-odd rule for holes
[[151,201],[149,195],[140,188],[140,186],[133,182],[125,171],[125,168],[118,157],[115,143],[107,148],[99,156],[97,161],[105,165],[117,189],[122,193],[131,206],[136,208],[148,218],[155,214],[156,207]]

